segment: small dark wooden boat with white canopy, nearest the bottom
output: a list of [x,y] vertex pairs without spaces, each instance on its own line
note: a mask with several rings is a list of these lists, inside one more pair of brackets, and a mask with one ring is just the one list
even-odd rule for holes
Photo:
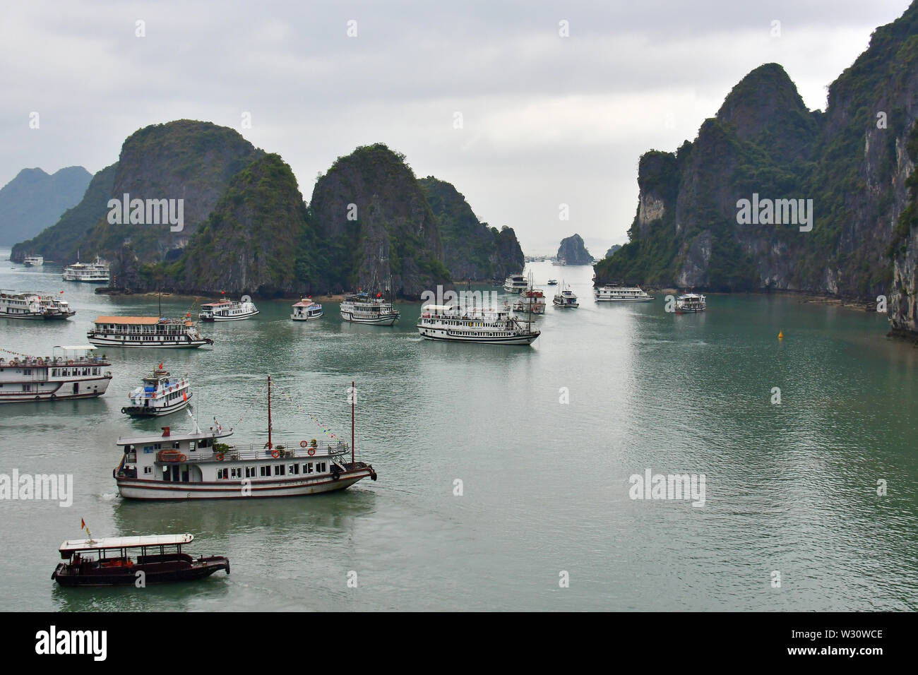
[[[148,534],[65,541],[51,579],[62,586],[128,586],[190,581],[209,577],[219,569],[229,574],[223,556],[192,557],[182,553],[193,534]],[[142,573],[142,574],[141,574]]]

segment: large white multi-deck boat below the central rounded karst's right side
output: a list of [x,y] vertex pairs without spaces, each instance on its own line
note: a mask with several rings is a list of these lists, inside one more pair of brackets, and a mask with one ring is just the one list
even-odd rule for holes
[[418,332],[427,340],[455,343],[532,344],[542,333],[509,309],[460,309],[457,305],[424,305]]

